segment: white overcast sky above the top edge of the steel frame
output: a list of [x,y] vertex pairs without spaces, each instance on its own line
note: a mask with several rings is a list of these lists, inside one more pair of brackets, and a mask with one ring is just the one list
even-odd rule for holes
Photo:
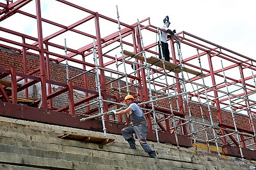
[[[74,3],[74,1],[72,1]],[[134,24],[150,17],[152,25],[163,25],[170,17],[170,29],[186,31],[212,43],[255,59],[256,1],[238,0],[177,0],[177,1],[76,1],[77,4],[116,18],[116,5],[120,20]]]

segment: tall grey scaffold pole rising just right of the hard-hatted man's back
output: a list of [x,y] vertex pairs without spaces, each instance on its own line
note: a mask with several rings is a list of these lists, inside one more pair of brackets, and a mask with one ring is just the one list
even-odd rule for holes
[[143,52],[143,56],[144,56],[144,60],[145,60],[145,68],[147,70],[147,83],[148,83],[148,91],[149,91],[149,98],[150,98],[150,101],[152,101],[151,103],[151,106],[152,106],[152,112],[153,112],[153,118],[154,118],[154,128],[155,128],[155,131],[156,131],[156,139],[157,139],[157,143],[159,143],[159,136],[158,136],[158,130],[157,130],[157,122],[156,122],[156,111],[155,111],[155,108],[154,108],[154,102],[153,102],[153,97],[152,97],[152,90],[151,90],[151,85],[150,85],[150,71],[149,71],[149,68],[148,68],[148,64],[147,64],[147,57],[146,57],[146,53],[145,53],[145,48],[144,48],[144,45],[143,45],[143,38],[142,38],[142,35],[141,35],[141,29],[140,29],[140,21],[138,20],[138,29],[139,29],[139,32],[140,32],[140,39],[141,39],[141,47],[142,47],[142,52]]

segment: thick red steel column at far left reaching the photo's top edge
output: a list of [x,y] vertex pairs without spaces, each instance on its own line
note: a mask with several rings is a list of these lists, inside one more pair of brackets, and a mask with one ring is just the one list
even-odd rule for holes
[[45,74],[45,62],[44,62],[44,44],[43,44],[40,0],[36,0],[36,21],[37,21],[37,32],[38,32],[38,48],[40,49],[39,60],[40,60],[42,108],[47,108],[46,74]]

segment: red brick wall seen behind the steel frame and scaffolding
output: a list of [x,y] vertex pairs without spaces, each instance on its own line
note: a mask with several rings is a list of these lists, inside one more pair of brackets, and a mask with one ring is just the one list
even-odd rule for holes
[[[23,59],[22,55],[20,53],[14,52],[13,50],[8,50],[6,48],[1,48],[0,47],[0,67],[4,69],[10,69],[10,67],[16,67],[17,71],[22,73],[23,70]],[[33,71],[34,69],[39,67],[39,60],[38,57],[28,55],[27,56],[27,62],[28,62],[28,72]],[[53,81],[59,81],[61,83],[65,83],[67,81],[66,78],[66,67],[64,64],[56,64],[54,62],[50,63],[51,67],[51,80]],[[75,76],[79,73],[82,73],[83,70],[77,69],[75,67],[69,67],[69,76]],[[34,74],[34,76],[39,77],[39,73]],[[86,78],[87,78],[87,85],[88,89],[90,90],[96,90],[95,89],[95,74],[94,73],[86,73]],[[107,77],[107,81],[111,80],[111,78]],[[76,78],[75,80],[72,80],[74,84],[78,87],[84,87],[84,80],[83,76],[79,76],[79,78]],[[125,82],[121,81],[122,85],[121,87],[125,87]],[[114,87],[118,87],[117,82],[113,83]],[[108,93],[111,93],[110,89],[110,84],[107,85],[108,87]],[[53,88],[54,90],[54,88]],[[58,87],[55,88],[55,90],[58,90]],[[132,87],[130,90],[135,91],[135,87]],[[84,94],[81,93],[74,93],[75,95],[75,101],[78,101],[81,99],[81,97],[84,97]],[[154,95],[154,94],[153,94]],[[67,93],[62,94],[62,96],[54,97],[54,107],[63,107],[67,106],[68,100],[67,100]],[[173,110],[177,110],[177,104],[175,99],[171,99],[170,101],[165,99],[162,100],[161,102],[157,103],[159,106],[164,107],[164,108],[170,108],[170,103],[172,104]],[[194,117],[202,118],[202,113],[200,109],[199,103],[196,103],[194,101],[189,101],[189,106],[191,107],[191,115]],[[187,108],[187,107],[185,107]],[[209,120],[209,113],[208,113],[208,108],[207,106],[202,106],[202,110],[204,111],[204,118]],[[186,113],[188,113],[188,110],[186,109]],[[214,122],[218,122],[218,116],[216,112],[216,108],[211,106],[211,113],[212,113],[212,118]],[[236,124],[239,127],[243,127],[245,129],[250,130],[250,124],[248,123],[248,117],[247,115],[241,115],[241,114],[236,114]],[[234,124],[232,120],[232,115],[228,111],[222,111],[222,118],[223,122],[225,124]],[[254,122],[254,120],[253,120]],[[255,124],[255,122],[254,122]],[[198,127],[199,129],[202,127]]]

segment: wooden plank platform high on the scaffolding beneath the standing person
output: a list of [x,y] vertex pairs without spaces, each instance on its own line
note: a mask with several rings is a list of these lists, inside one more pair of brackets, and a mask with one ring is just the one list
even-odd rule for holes
[[[136,55],[136,53],[132,53],[132,52],[128,52],[126,50],[124,50],[124,54],[125,55],[128,55],[130,57],[133,57],[135,59],[138,59],[138,60],[143,60],[145,61],[145,58],[141,55]],[[163,62],[164,62],[164,66],[163,66]],[[204,74],[198,72],[198,71],[195,71],[193,69],[189,69],[189,68],[186,68],[186,67],[181,67],[177,64],[173,64],[172,62],[168,62],[166,60],[164,60],[162,62],[161,59],[158,59],[157,57],[149,57],[147,58],[147,63],[149,64],[153,64],[157,67],[161,67],[161,68],[164,68],[169,70],[169,71],[172,71],[174,73],[180,73],[181,71],[186,71],[187,73],[191,73],[191,74],[194,74],[196,76],[203,76]]]

